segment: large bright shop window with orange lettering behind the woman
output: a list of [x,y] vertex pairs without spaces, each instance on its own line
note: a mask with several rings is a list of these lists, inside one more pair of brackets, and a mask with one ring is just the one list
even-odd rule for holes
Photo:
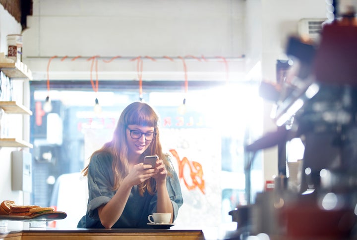
[[[85,214],[86,183],[79,172],[90,154],[111,140],[123,108],[139,100],[137,86],[132,82],[100,82],[97,94],[87,85],[55,81],[49,93],[53,109],[46,113],[43,111],[48,95],[46,83],[31,82],[34,112],[31,141],[36,173],[31,201],[65,211],[68,217],[58,221],[58,227],[76,227]],[[180,184],[184,204],[176,223],[202,225],[202,228],[232,224],[228,212],[247,202],[243,145],[256,139],[262,131],[262,104],[257,85],[195,82],[189,86],[186,96],[181,85],[171,81],[143,83],[147,86],[143,89],[143,100],[160,116],[163,147],[174,156],[176,170],[179,171],[179,165],[182,167]],[[183,97],[186,98],[184,114],[179,112]],[[94,111],[95,98],[101,105],[101,115]],[[261,191],[258,159],[253,174],[252,191]],[[81,191],[63,188],[69,184],[76,184],[75,188]],[[73,194],[80,194],[75,198],[82,199],[81,205],[68,208],[65,198]]]

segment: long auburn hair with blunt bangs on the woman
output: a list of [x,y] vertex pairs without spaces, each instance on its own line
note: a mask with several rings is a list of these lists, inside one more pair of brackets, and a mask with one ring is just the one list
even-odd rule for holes
[[[127,107],[125,107],[119,117],[117,127],[113,134],[113,139],[110,142],[105,143],[102,148],[92,153],[90,159],[94,154],[99,152],[108,152],[113,156],[113,190],[117,190],[119,188],[121,181],[129,173],[129,164],[127,159],[128,146],[126,142],[126,128],[128,125],[154,127],[154,133],[156,133],[156,137],[151,141],[150,146],[143,152],[141,156],[142,160],[144,160],[144,156],[146,155],[157,154],[160,159],[163,159],[166,169],[168,170],[168,176],[172,176],[173,169],[168,160],[168,154],[163,153],[162,146],[160,144],[158,124],[159,117],[149,104],[138,101],[130,103]],[[88,175],[88,167],[89,163],[82,170],[84,176]],[[156,181],[153,178],[150,178],[139,184],[139,193],[141,196],[145,191],[148,191],[149,194],[154,194],[156,192]]]

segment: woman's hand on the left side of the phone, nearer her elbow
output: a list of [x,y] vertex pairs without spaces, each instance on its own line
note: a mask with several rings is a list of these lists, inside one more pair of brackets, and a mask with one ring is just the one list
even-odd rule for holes
[[153,177],[158,172],[155,168],[150,168],[149,165],[143,163],[136,164],[132,167],[129,174],[124,178],[123,182],[130,186],[139,185],[147,179]]

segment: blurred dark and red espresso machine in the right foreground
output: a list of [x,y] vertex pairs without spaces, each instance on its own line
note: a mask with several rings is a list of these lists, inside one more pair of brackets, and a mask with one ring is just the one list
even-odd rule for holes
[[[276,102],[277,131],[245,150],[284,149],[288,141],[300,138],[305,149],[299,189],[287,187],[287,159],[279,154],[274,191],[258,193],[254,204],[229,213],[238,229],[227,239],[260,233],[273,239],[357,239],[355,10],[325,22],[319,43],[290,37],[286,54],[291,61],[284,80],[265,95]],[[242,212],[248,212],[244,221]]]

